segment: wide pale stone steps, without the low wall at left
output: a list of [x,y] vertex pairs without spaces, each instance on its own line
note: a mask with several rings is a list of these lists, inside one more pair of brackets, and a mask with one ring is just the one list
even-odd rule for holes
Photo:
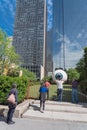
[[31,101],[29,109],[22,117],[87,123],[87,104],[46,101],[46,109],[44,113],[41,113],[39,101]]

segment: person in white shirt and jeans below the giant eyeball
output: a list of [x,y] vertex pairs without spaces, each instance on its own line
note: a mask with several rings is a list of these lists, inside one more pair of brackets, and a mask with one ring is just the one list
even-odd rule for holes
[[58,96],[58,101],[62,101],[62,97],[63,97],[63,83],[64,81],[59,79],[55,81],[57,84],[57,96]]

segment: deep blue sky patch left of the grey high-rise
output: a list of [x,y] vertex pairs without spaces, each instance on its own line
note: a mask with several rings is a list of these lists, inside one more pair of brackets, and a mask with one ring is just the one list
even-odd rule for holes
[[0,0],[0,27],[8,36],[13,35],[15,9],[15,0]]

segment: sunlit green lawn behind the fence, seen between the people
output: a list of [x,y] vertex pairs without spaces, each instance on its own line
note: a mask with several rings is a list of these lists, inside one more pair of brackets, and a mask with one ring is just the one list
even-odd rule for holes
[[[35,85],[30,87],[30,93],[29,93],[30,98],[33,99],[39,98],[39,87],[40,85]],[[63,101],[71,102],[71,92],[72,92],[71,86],[67,84],[64,85]],[[87,102],[87,99],[85,99],[81,95],[78,95],[78,97],[79,97],[79,102]],[[54,101],[58,100],[56,84],[51,85],[49,88],[49,100],[54,100]]]

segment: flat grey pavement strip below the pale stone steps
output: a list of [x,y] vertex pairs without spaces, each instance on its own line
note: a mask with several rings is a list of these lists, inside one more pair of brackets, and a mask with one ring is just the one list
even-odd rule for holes
[[15,124],[8,125],[0,118],[0,130],[87,130],[87,123],[58,120],[13,118]]

